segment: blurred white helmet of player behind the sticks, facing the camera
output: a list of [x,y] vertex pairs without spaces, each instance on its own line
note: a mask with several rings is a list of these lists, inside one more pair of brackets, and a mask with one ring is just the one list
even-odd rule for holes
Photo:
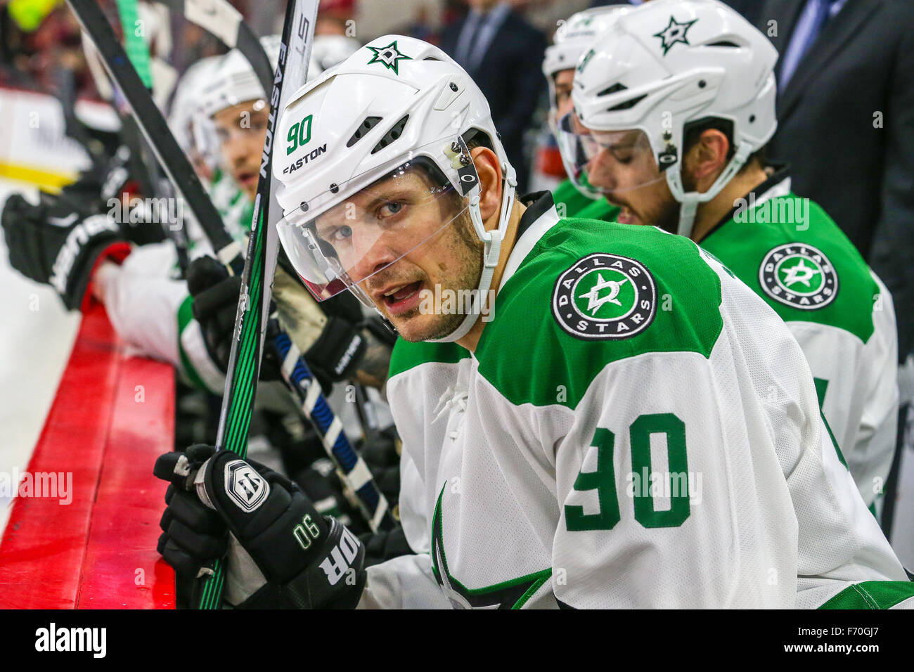
[[[278,35],[260,37],[260,46],[267,53],[272,69],[276,69],[280,59],[281,41],[282,38]],[[267,94],[260,86],[260,80],[250,67],[248,59],[235,48],[219,57],[212,79],[207,81],[200,91],[198,107],[204,116],[212,117],[217,112],[241,102],[266,97]]]

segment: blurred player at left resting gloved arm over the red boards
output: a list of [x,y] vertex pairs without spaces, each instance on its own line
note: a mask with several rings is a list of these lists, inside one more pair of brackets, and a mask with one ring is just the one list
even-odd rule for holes
[[[261,43],[275,62],[279,38],[265,37]],[[320,53],[316,44],[315,50]],[[197,107],[207,123],[215,123],[221,140],[218,152],[225,166],[215,170],[208,190],[228,232],[244,243],[260,167],[260,149],[254,148],[262,147],[266,132],[265,94],[237,50],[201,64],[201,69],[208,79],[207,86],[197,93]],[[257,167],[251,180],[246,157],[255,152]],[[125,341],[147,356],[174,364],[197,387],[221,394],[228,348],[218,332],[228,328],[225,323],[234,323],[237,289],[234,297],[224,288],[207,293],[207,300],[197,306],[197,317],[207,323],[201,329],[187,283],[177,277],[174,246],[163,242],[127,247],[128,235],[134,237],[128,229],[159,229],[179,222],[146,221],[131,227],[110,217],[110,208],[99,208],[81,191],[79,196],[43,195],[37,207],[22,197],[8,200],[3,225],[13,266],[38,282],[55,286],[71,310],[85,305],[94,295],[105,304],[112,324]],[[192,256],[212,254],[202,231],[193,222],[188,229]],[[109,251],[112,245],[115,247]],[[242,249],[245,247],[242,244]],[[195,284],[206,287],[208,276],[216,272],[217,262],[205,261],[193,267],[188,279],[191,289]],[[193,277],[195,272],[197,278]],[[314,305],[312,318],[311,331],[318,335],[324,332],[324,338],[314,343],[318,347],[309,354],[318,375],[331,380],[348,378],[359,357],[351,358],[350,368],[331,372],[357,336],[354,324],[361,321],[360,311],[356,307],[354,312],[349,306],[328,319]],[[373,370],[365,381],[379,386],[383,376]]]

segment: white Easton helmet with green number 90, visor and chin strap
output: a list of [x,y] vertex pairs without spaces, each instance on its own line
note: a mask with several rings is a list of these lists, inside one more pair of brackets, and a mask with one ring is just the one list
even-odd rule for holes
[[[440,340],[465,335],[481,314],[488,294],[516,184],[488,102],[470,76],[427,42],[399,35],[378,37],[296,91],[282,111],[277,138],[282,144],[274,151],[272,166],[281,183],[277,198],[285,215],[278,226],[280,240],[319,301],[349,289],[363,303],[374,306],[359,284],[430,240],[469,209],[476,236],[484,242],[483,272],[461,325]],[[494,151],[503,171],[500,219],[498,229],[492,231],[484,229],[479,210],[479,176],[467,149],[473,138]],[[425,200],[417,207],[441,197],[455,197],[460,205],[456,211],[450,208],[451,214],[443,217],[447,221],[441,221],[441,227],[430,235],[401,237],[388,262],[365,272],[359,268],[364,257],[355,251],[353,222],[358,222],[360,237],[362,229],[368,231],[362,250],[380,245],[378,240],[388,228],[368,215],[363,219],[356,212],[356,201],[374,188],[388,189],[391,182],[409,179],[409,168],[418,165],[424,166],[426,176],[434,177],[428,180]],[[436,221],[442,219],[436,217]],[[326,234],[328,226],[333,228]],[[340,251],[327,240],[346,235],[341,246],[351,244],[349,251]],[[409,240],[408,249],[402,238]]]

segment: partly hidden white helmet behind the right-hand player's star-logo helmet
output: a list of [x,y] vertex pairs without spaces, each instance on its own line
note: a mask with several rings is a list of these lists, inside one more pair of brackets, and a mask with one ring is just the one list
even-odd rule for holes
[[549,127],[558,141],[558,153],[562,157],[566,175],[579,192],[590,198],[600,197],[600,192],[590,187],[584,173],[576,169],[579,151],[573,142],[574,138],[569,134],[558,133],[556,75],[562,70],[574,69],[584,51],[590,47],[590,43],[610,27],[617,16],[631,11],[632,8],[632,5],[607,5],[585,9],[571,15],[567,21],[562,21],[558,25],[553,44],[546,48],[546,57],[543,59],[543,74],[549,87]]

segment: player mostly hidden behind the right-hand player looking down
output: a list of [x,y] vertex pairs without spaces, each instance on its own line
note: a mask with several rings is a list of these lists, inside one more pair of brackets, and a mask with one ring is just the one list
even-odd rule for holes
[[558,120],[571,112],[571,83],[584,49],[611,24],[614,16],[629,9],[631,5],[610,5],[578,12],[558,26],[554,44],[546,48],[543,74],[549,91],[549,127],[556,136],[558,152],[568,175],[568,179],[552,192],[559,215],[615,221],[619,212],[619,208],[611,206],[599,191],[588,185],[586,171],[581,170],[577,138],[560,133]]

